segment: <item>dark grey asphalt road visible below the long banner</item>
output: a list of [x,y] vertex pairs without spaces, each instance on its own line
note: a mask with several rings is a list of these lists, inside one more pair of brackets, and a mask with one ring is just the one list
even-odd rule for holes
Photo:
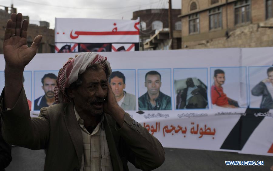
[[[156,171],[225,171],[225,170],[266,170],[273,165],[272,156],[238,154],[232,152],[188,150],[165,148],[166,159]],[[23,147],[12,148],[12,162],[6,171],[42,171],[45,163],[44,150],[29,150]],[[264,166],[225,166],[225,160],[264,160]],[[138,171],[128,163],[130,171]]]

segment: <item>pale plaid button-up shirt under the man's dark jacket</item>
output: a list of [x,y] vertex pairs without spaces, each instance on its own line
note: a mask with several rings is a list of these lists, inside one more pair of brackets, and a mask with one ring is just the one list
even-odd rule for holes
[[77,121],[83,135],[83,156],[80,171],[112,171],[110,152],[103,127],[104,117],[90,134],[83,125],[83,119],[74,106]]

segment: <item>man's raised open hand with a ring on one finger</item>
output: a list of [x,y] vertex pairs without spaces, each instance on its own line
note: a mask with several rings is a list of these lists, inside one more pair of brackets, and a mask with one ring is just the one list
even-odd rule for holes
[[36,54],[42,35],[35,37],[31,47],[28,47],[26,41],[28,24],[27,19],[22,22],[21,13],[17,15],[12,13],[11,19],[7,22],[3,49],[8,68],[24,69]]

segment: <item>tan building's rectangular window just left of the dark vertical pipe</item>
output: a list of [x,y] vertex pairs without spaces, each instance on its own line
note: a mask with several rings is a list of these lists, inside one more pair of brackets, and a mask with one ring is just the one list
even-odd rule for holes
[[209,10],[210,30],[222,27],[221,8]]

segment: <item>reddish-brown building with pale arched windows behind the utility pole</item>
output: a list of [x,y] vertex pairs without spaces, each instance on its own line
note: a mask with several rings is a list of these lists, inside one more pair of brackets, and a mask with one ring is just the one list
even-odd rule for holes
[[[180,9],[172,9],[172,22],[174,30],[181,30]],[[146,9],[133,12],[132,20],[140,17],[140,46],[163,28],[169,28],[168,9]],[[179,40],[181,41],[181,40]],[[140,50],[142,48],[140,47]]]

